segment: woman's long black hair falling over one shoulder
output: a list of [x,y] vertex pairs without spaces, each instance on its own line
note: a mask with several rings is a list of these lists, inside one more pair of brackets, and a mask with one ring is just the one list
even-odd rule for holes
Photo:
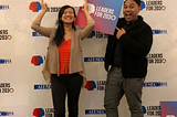
[[[64,13],[64,10],[67,9],[67,8],[72,8],[73,11],[74,11],[74,17],[76,18],[76,14],[75,14],[75,10],[73,7],[71,6],[63,6],[60,11],[59,11],[59,15],[58,15],[58,22],[56,22],[56,25],[58,25],[58,29],[56,29],[56,32],[55,32],[55,36],[53,39],[53,41],[55,42],[55,44],[59,46],[62,42],[62,40],[64,40],[64,25],[63,25],[63,21],[61,20],[63,13]],[[75,30],[75,25],[74,25],[74,22],[72,23],[72,28]]]

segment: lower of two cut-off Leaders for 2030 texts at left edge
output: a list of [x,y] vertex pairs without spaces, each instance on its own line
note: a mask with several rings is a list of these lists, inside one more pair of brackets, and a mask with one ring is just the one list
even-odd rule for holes
[[14,88],[10,86],[10,83],[0,83],[0,93],[13,93]]

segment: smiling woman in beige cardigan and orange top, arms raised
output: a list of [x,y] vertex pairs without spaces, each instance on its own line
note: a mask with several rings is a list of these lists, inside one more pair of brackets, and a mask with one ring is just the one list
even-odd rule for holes
[[65,117],[65,96],[67,94],[69,117],[77,117],[79,96],[85,73],[83,66],[81,40],[94,29],[95,22],[88,13],[87,1],[83,4],[87,25],[75,30],[75,11],[64,6],[59,11],[58,28],[40,25],[48,7],[41,2],[42,11],[32,22],[31,28],[38,33],[50,38],[49,50],[43,67],[46,83],[51,83],[54,106],[54,117]]

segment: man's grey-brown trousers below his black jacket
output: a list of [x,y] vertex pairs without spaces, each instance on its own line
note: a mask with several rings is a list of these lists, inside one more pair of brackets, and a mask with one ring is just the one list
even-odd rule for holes
[[106,117],[118,117],[117,106],[125,94],[131,110],[131,117],[144,117],[142,109],[142,89],[145,77],[124,78],[122,70],[112,67],[107,73],[104,107]]

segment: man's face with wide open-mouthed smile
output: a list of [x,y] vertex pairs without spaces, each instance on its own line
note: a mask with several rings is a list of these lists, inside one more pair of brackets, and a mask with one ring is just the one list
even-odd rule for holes
[[127,22],[137,20],[137,15],[140,11],[140,7],[134,0],[126,0],[123,7],[123,14]]

